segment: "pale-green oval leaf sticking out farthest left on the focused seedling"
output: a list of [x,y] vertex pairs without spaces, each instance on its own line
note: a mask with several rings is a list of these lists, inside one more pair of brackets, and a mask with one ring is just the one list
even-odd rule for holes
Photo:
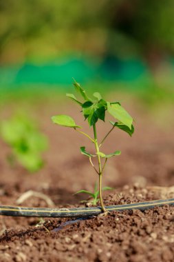
[[59,114],[58,116],[53,116],[52,121],[53,123],[66,126],[68,128],[81,128],[79,125],[76,125],[72,117],[69,117],[65,114]]

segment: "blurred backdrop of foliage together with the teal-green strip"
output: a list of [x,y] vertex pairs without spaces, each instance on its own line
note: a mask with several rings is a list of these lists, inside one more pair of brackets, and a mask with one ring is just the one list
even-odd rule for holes
[[0,0],[1,88],[74,77],[171,92],[173,14],[173,0]]

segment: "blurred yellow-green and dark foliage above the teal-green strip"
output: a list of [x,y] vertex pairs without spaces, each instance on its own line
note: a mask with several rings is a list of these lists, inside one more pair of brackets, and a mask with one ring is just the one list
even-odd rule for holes
[[172,0],[0,0],[0,62],[47,60],[65,52],[145,57],[174,52]]

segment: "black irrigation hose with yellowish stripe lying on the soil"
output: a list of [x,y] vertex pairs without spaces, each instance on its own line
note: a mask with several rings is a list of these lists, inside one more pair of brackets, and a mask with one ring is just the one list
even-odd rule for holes
[[[147,210],[162,205],[174,205],[174,199],[155,200],[142,203],[109,205],[105,208],[111,211]],[[40,216],[40,217],[85,217],[101,214],[100,207],[94,208],[24,208],[10,205],[0,205],[0,215],[3,216]]]

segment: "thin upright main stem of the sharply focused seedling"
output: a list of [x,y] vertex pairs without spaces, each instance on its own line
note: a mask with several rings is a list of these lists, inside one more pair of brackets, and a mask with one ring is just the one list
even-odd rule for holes
[[[93,130],[94,130],[94,139],[95,139],[96,151],[98,153],[100,151],[99,151],[98,141],[97,141],[96,124],[93,125]],[[105,205],[103,204],[103,201],[102,201],[102,167],[101,167],[100,155],[98,155],[98,175],[99,175],[99,199],[100,199],[100,205],[101,205],[102,211],[107,213]]]

